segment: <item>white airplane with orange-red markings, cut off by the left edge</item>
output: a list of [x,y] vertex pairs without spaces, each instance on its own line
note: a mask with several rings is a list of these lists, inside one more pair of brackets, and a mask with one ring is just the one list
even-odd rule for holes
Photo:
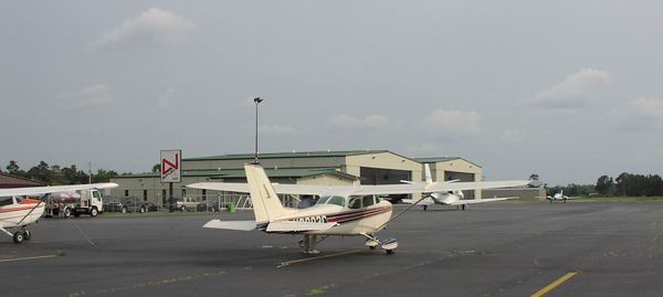
[[[87,189],[110,189],[117,187],[117,183],[90,183],[75,185],[55,185],[55,187],[33,187],[0,189],[0,232],[13,237],[14,243],[19,244],[29,241],[32,233],[27,226],[35,223],[44,213],[45,204],[43,200],[51,193],[74,192]],[[22,197],[42,195],[41,199],[28,199]],[[15,229],[13,233],[9,230]]]

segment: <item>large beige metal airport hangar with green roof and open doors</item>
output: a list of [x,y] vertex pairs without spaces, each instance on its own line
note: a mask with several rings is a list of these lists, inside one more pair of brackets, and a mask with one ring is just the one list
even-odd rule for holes
[[[423,163],[429,163],[433,180],[481,181],[483,169],[463,158],[408,158],[389,150],[303,151],[260,153],[260,163],[272,182],[351,185],[396,184],[401,180],[423,180]],[[243,166],[254,161],[253,153],[223,155],[182,159],[181,183],[173,184],[173,197],[204,201],[215,193],[185,185],[203,181],[246,182]],[[442,180],[442,179],[440,179]],[[158,172],[120,176],[110,179],[119,184],[113,197],[135,198],[155,204],[168,203],[168,183]],[[466,199],[481,199],[481,191],[466,192]]]

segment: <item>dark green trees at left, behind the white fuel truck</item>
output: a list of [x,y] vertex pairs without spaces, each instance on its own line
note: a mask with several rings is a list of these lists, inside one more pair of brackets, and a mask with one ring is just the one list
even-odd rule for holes
[[[75,165],[70,167],[61,167],[59,165],[49,166],[44,161],[40,161],[36,166],[33,166],[29,170],[23,170],[15,160],[9,161],[9,165],[4,167],[6,170],[0,169],[0,172],[41,181],[50,185],[57,184],[80,184],[92,182],[107,182],[110,178],[120,176],[114,170],[97,169],[96,173],[92,174],[92,178],[84,170],[78,169]],[[122,176],[130,174],[128,172],[122,173]]]

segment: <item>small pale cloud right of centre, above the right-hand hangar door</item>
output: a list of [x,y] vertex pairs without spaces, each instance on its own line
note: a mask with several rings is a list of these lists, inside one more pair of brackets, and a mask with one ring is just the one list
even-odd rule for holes
[[476,112],[435,109],[424,119],[427,129],[436,136],[459,137],[477,134],[481,115]]

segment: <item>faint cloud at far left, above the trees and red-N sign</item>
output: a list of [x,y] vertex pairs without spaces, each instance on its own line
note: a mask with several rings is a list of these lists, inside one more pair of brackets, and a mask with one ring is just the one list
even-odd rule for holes
[[62,93],[57,95],[57,99],[61,108],[69,112],[97,109],[115,102],[115,98],[110,94],[110,88],[102,84]]

